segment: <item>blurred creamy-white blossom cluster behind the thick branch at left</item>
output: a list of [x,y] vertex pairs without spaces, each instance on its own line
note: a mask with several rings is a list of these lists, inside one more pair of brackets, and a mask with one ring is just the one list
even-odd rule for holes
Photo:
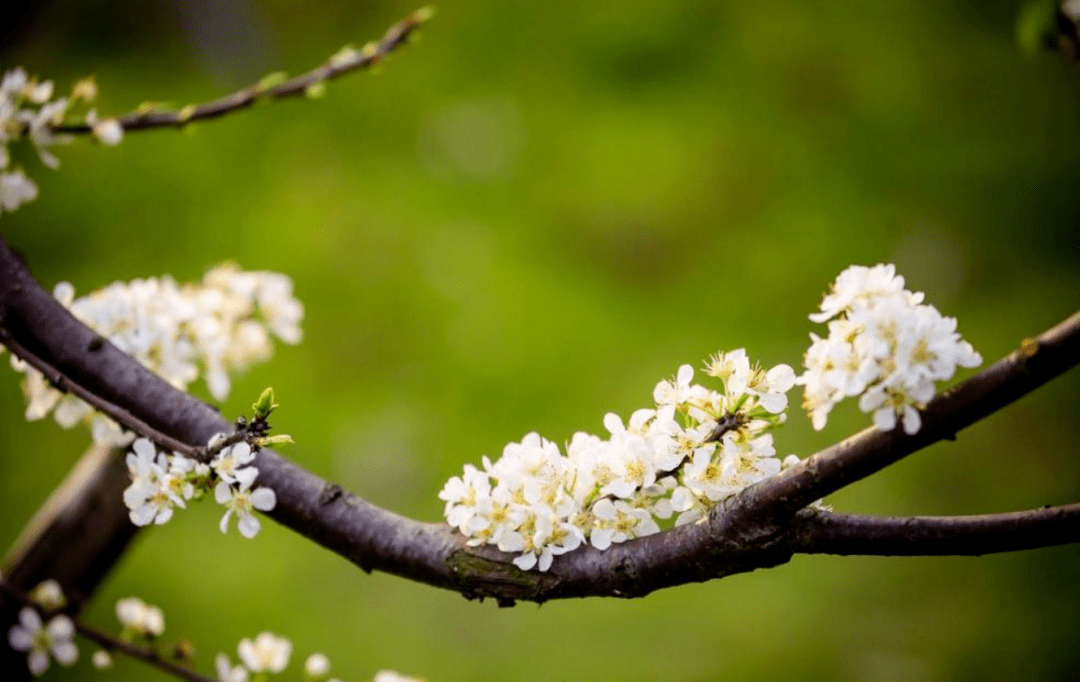
[[[271,334],[286,344],[301,338],[303,306],[293,296],[292,279],[232,264],[214,268],[199,284],[181,286],[167,276],[113,282],[76,299],[75,287],[60,282],[54,295],[86,326],[173,386],[184,390],[204,372],[216,400],[228,397],[230,372],[271,356]],[[12,366],[26,374],[27,419],[53,412],[64,428],[89,422],[98,443],[126,445],[134,438],[82,400],[53,388],[25,362],[12,358]]]

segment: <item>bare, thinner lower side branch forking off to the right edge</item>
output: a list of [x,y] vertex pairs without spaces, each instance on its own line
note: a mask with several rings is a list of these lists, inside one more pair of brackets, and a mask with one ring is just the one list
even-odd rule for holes
[[800,517],[792,548],[802,554],[974,557],[1080,543],[1080,504],[970,517]]

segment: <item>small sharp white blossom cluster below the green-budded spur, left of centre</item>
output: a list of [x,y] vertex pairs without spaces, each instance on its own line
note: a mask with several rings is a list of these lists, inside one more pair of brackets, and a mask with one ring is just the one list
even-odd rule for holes
[[[211,439],[208,447],[220,447],[224,434]],[[211,490],[214,499],[225,505],[220,530],[229,530],[229,518],[235,513],[240,534],[251,538],[259,532],[259,520],[253,510],[270,511],[276,505],[274,492],[269,487],[252,490],[259,471],[249,465],[255,453],[245,442],[220,447],[211,463],[202,464],[179,453],[159,453],[153,443],[140,438],[127,454],[127,469],[132,483],[124,491],[124,504],[135,525],[165,523],[173,517],[173,509],[185,508],[189,499],[201,497]]]

